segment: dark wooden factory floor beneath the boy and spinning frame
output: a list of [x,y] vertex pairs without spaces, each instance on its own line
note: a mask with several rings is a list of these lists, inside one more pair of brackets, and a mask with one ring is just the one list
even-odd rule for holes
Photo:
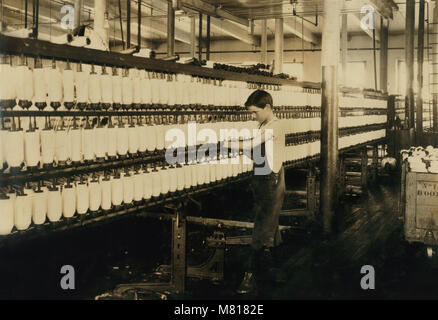
[[[303,180],[300,180],[303,182]],[[438,298],[438,263],[427,259],[421,245],[403,240],[398,211],[398,177],[379,177],[361,196],[347,198],[337,210],[338,232],[331,239],[315,233],[289,231],[279,249],[277,275],[283,281],[257,296],[239,296],[235,288],[244,273],[248,248],[230,247],[225,255],[225,280],[188,280],[184,299],[420,299]],[[300,182],[300,183],[301,183]],[[241,188],[241,187],[240,187]],[[230,189],[205,212],[232,217],[239,212],[251,220],[245,188]],[[228,193],[228,194],[227,194]],[[230,200],[231,197],[231,200]],[[233,199],[234,197],[234,199]],[[239,198],[240,197],[240,198]],[[208,199],[207,199],[208,200]],[[229,206],[233,203],[233,207]],[[211,206],[211,207],[209,207]],[[213,210],[214,208],[214,210]],[[282,219],[282,224],[286,222]],[[300,224],[301,221],[296,221]],[[151,280],[151,272],[170,263],[168,221],[130,217],[83,230],[47,235],[0,249],[1,299],[112,299],[105,293],[120,283]],[[214,229],[188,226],[188,264],[205,261],[212,253],[203,240]],[[243,230],[226,230],[227,236]],[[248,232],[246,232],[248,234]],[[75,268],[75,289],[62,290],[63,265]],[[362,290],[363,265],[375,269],[375,290]],[[163,279],[160,279],[163,280]],[[125,299],[134,298],[127,294]],[[158,299],[138,293],[135,298]]]

